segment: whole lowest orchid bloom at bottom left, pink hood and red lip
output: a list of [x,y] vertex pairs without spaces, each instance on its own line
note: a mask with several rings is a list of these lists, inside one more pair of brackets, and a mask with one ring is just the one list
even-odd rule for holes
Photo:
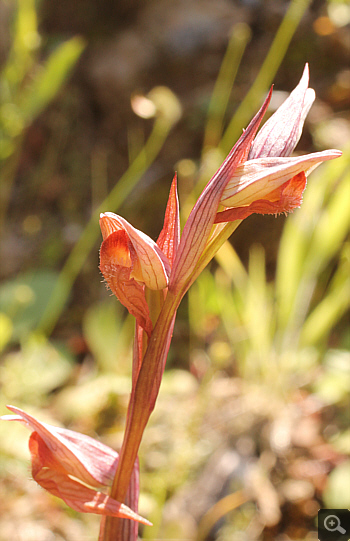
[[32,475],[40,486],[75,511],[150,524],[127,505],[94,490],[111,485],[118,453],[89,436],[42,423],[14,406],[7,408],[15,415],[3,415],[0,419],[18,421],[32,431],[29,438]]

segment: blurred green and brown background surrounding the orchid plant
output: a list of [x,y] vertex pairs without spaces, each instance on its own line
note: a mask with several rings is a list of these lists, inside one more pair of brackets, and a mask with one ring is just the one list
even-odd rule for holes
[[[305,62],[297,152],[339,148],[293,215],[251,216],[183,300],[140,450],[142,539],[317,539],[350,507],[350,5],[0,0],[0,414],[118,448],[133,321],[98,270],[98,214],[182,223],[274,83]],[[0,424],[0,541],[92,541]]]

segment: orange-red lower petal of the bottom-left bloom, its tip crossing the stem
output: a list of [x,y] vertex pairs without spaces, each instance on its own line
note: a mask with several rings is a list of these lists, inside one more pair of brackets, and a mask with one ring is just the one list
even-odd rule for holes
[[55,454],[37,432],[33,432],[30,437],[29,449],[35,481],[54,496],[61,498],[72,509],[81,513],[109,515],[151,524],[107,494],[97,492],[71,479],[66,473],[52,469],[50,466],[56,462]]

